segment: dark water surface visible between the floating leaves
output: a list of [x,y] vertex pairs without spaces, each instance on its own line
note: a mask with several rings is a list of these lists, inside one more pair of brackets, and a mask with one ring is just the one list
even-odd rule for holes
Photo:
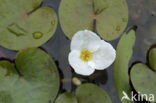
[[[60,0],[45,0],[42,6],[54,8],[58,14]],[[129,23],[127,28],[136,25],[136,44],[134,55],[130,62],[141,61],[146,63],[148,49],[156,44],[156,0],[127,0],[129,7]],[[116,48],[119,39],[112,41]],[[103,71],[96,71],[90,77],[77,75],[68,64],[68,53],[70,40],[68,40],[58,24],[55,35],[43,46],[41,46],[56,61],[61,74],[60,93],[64,91],[74,92],[76,86],[71,82],[72,77],[78,77],[82,82],[93,82],[103,88],[111,97],[112,103],[121,103],[114,86],[113,66]],[[8,51],[0,47],[0,51],[14,59],[17,52]],[[1,55],[2,55],[1,53]]]

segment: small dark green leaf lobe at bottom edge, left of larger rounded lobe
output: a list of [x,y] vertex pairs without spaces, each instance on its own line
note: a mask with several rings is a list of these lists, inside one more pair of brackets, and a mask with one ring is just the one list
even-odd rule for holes
[[63,93],[55,103],[78,103],[76,97],[72,93]]

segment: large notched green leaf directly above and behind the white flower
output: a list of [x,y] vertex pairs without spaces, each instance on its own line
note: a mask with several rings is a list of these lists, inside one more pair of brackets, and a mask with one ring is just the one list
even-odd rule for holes
[[79,30],[96,28],[104,40],[120,36],[128,22],[125,0],[61,0],[60,24],[68,38]]

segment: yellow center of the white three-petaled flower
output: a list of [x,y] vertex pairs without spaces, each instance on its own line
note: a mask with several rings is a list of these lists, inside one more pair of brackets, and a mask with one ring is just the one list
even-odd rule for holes
[[89,50],[82,50],[80,55],[81,60],[87,62],[92,59],[92,53]]

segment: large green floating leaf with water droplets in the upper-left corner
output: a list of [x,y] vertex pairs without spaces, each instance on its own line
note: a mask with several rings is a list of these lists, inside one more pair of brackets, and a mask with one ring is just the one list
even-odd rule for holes
[[49,7],[38,8],[42,0],[0,2],[1,46],[11,50],[38,47],[54,34],[57,27],[56,13]]

